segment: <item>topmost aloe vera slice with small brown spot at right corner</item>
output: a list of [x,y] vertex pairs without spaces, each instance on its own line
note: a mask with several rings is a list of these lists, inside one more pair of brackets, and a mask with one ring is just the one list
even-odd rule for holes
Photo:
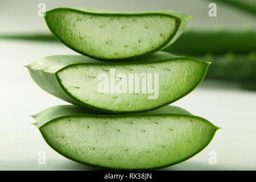
[[171,10],[118,12],[56,8],[46,23],[60,42],[98,60],[138,58],[170,46],[191,16]]

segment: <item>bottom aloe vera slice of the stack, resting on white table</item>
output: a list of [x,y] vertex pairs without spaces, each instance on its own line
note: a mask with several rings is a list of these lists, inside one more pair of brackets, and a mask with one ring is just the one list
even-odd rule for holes
[[82,164],[153,169],[183,162],[203,150],[218,127],[179,107],[106,115],[63,105],[33,116],[55,151]]

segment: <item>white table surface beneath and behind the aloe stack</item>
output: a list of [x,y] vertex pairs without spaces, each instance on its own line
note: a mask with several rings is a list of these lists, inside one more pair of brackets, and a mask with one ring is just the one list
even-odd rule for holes
[[[40,89],[23,67],[40,57],[60,54],[76,53],[59,43],[0,40],[0,170],[96,169],[53,151],[31,125],[34,119],[28,117],[50,106],[67,104]],[[164,170],[256,169],[256,92],[205,80],[173,105],[222,129],[199,154]],[[38,164],[39,151],[46,152],[46,165]],[[217,164],[209,164],[210,151],[216,152]]]

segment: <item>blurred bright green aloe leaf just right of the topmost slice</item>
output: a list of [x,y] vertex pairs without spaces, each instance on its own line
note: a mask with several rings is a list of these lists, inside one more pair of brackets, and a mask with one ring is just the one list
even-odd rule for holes
[[256,50],[256,30],[188,30],[165,52],[177,55],[250,53]]

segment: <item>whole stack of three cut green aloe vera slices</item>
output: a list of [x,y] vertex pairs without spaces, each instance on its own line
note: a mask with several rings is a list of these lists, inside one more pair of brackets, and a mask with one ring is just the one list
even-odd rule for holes
[[115,169],[167,167],[203,150],[218,127],[166,105],[195,89],[209,63],[158,52],[189,18],[170,10],[47,11],[53,35],[82,54],[27,65],[43,90],[73,104],[34,115],[49,146],[76,162]]

